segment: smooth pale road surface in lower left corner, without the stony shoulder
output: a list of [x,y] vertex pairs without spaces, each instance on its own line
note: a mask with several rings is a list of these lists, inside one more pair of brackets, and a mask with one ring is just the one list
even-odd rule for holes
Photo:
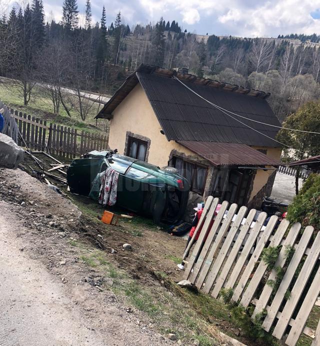
[[[0,215],[0,345],[104,345],[43,264],[19,250],[19,222]],[[110,344],[115,344],[112,338]]]

